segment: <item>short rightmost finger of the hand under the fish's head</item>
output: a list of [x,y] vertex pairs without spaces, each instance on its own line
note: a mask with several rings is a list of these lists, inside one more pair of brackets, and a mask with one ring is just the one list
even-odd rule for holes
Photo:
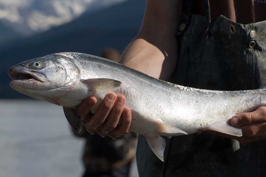
[[119,136],[128,134],[129,128],[131,125],[131,110],[128,107],[125,107],[122,112],[122,118],[121,118],[121,123],[120,125],[117,126],[116,129],[111,131],[109,134],[111,138],[117,138]]

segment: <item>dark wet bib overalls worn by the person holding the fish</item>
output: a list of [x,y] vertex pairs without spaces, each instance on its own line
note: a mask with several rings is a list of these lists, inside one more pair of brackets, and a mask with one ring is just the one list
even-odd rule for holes
[[[266,21],[247,25],[220,15],[190,14],[184,7],[180,55],[174,83],[208,90],[252,90],[266,85]],[[266,140],[247,145],[209,133],[166,139],[164,162],[139,135],[137,164],[140,177],[253,177],[266,176]]]

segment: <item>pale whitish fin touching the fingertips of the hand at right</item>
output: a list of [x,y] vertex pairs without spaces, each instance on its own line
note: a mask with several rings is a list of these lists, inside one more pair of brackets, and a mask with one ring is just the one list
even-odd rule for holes
[[228,135],[238,136],[241,137],[242,129],[239,127],[233,127],[231,126],[230,120],[223,120],[220,122],[216,122],[211,124],[209,127],[207,127],[205,130],[213,130],[216,132],[226,133]]

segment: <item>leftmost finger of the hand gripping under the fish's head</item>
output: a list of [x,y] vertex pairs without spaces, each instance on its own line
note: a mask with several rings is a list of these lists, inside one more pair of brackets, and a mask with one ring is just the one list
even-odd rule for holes
[[77,113],[80,117],[85,117],[96,104],[97,99],[94,96],[89,96],[77,106]]

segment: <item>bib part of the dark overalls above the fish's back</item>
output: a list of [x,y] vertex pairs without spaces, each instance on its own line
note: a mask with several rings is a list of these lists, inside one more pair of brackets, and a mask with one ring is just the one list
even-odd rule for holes
[[[230,25],[236,29],[232,34]],[[201,29],[201,30],[199,30]],[[266,84],[266,22],[238,24],[219,16],[205,40],[205,17],[191,15],[180,40],[175,83],[210,90],[251,90]],[[249,35],[254,30],[256,36]],[[249,43],[255,42],[250,48]],[[185,68],[185,69],[184,69]]]

